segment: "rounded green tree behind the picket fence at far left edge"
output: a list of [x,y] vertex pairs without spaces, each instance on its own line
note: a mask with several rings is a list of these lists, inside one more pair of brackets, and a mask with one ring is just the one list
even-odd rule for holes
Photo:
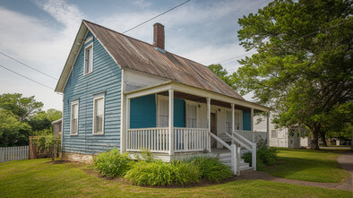
[[11,111],[0,109],[0,147],[28,145],[29,131]]

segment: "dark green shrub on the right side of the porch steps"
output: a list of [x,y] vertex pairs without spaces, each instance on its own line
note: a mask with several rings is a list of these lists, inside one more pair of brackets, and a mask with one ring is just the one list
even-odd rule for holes
[[[263,170],[265,166],[273,165],[277,159],[277,151],[274,148],[268,148],[263,146],[259,150],[256,151],[256,169]],[[242,156],[242,159],[246,163],[249,163],[252,166],[252,153],[247,152]]]

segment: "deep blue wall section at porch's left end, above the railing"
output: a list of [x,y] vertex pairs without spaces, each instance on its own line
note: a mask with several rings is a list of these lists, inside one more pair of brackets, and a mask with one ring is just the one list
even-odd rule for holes
[[130,128],[149,127],[156,127],[154,94],[130,100]]

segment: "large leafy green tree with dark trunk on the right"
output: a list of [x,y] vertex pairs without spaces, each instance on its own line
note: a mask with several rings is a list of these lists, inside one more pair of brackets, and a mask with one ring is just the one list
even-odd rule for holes
[[332,109],[353,99],[351,15],[349,0],[275,0],[238,21],[240,44],[257,53],[234,81],[277,109],[278,125],[306,125],[313,150]]

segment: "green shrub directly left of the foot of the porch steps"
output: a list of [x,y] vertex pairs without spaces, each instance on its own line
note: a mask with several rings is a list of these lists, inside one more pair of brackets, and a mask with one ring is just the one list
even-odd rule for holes
[[233,176],[228,167],[222,164],[218,158],[195,157],[188,161],[194,161],[200,169],[202,178],[211,182],[219,183],[220,181]]

